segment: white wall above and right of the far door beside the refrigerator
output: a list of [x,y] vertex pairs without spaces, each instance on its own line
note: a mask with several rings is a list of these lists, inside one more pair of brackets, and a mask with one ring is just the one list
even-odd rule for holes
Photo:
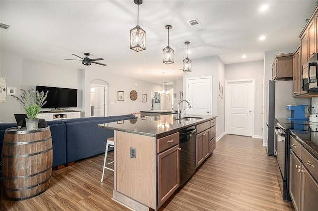
[[264,61],[252,61],[237,64],[225,65],[225,80],[254,79],[255,80],[255,114],[254,114],[254,135],[263,136],[263,73]]

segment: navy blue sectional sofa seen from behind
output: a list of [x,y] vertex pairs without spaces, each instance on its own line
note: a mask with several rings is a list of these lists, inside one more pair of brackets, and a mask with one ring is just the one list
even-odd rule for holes
[[[114,131],[99,128],[97,124],[132,118],[136,117],[128,114],[47,121],[52,135],[53,167],[104,153],[106,140],[114,136]],[[0,123],[1,152],[5,129],[16,126],[16,123]]]

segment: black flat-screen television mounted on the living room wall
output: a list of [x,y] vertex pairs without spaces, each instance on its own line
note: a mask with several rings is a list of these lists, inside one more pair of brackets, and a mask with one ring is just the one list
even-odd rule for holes
[[49,91],[48,96],[45,99],[46,104],[44,104],[42,108],[77,107],[77,89],[36,86],[36,90],[39,92],[44,91],[44,93]]

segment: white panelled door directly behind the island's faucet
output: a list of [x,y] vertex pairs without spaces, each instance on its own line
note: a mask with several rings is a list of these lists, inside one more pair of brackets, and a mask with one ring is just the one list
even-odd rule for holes
[[[208,115],[211,107],[212,77],[188,78],[186,100],[192,108],[187,108],[188,114]],[[187,105],[184,103],[184,107]]]

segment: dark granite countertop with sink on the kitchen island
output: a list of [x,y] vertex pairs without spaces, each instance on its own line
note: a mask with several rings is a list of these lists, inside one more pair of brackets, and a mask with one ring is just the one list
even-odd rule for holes
[[99,124],[98,127],[107,128],[111,130],[124,131],[145,136],[165,136],[180,129],[197,125],[202,122],[216,118],[217,116],[197,116],[188,115],[191,117],[200,117],[195,121],[176,120],[176,114],[161,115],[161,116],[146,116],[143,118],[122,120],[117,122],[110,122]]

